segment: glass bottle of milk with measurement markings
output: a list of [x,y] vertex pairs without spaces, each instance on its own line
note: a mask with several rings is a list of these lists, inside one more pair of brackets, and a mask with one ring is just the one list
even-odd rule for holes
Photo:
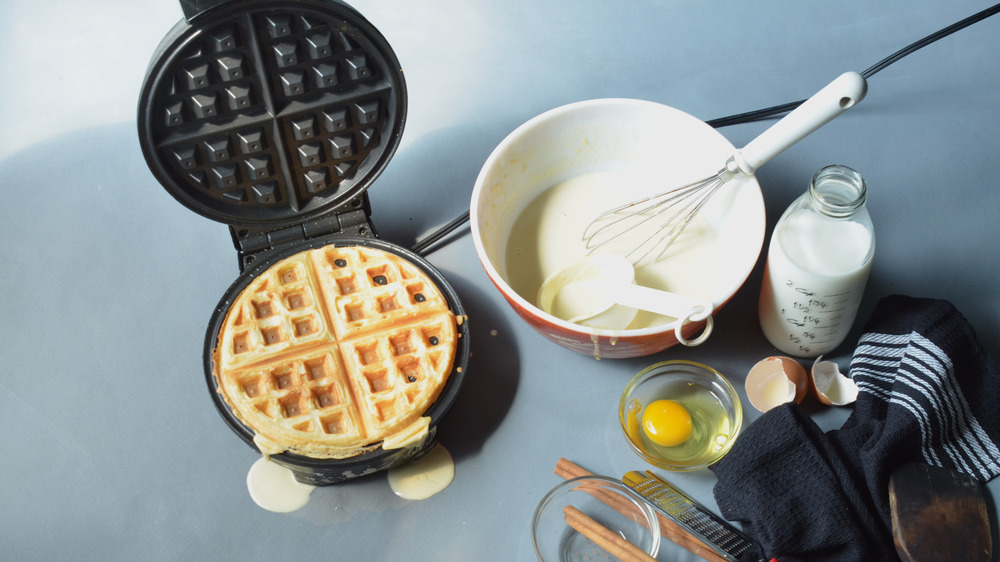
[[866,197],[860,174],[827,166],[778,219],[758,313],[764,335],[781,351],[816,357],[850,332],[875,254]]

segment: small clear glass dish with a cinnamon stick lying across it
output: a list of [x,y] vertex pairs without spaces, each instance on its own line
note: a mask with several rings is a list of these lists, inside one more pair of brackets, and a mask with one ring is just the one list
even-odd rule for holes
[[650,556],[660,551],[660,524],[648,503],[613,478],[580,476],[552,488],[535,508],[531,540],[539,560],[617,560],[570,526],[564,511],[570,505]]

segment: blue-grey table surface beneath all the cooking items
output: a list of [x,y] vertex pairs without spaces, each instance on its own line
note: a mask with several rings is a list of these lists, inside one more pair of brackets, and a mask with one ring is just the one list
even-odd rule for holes
[[[409,246],[458,216],[496,144],[558,105],[641,98],[707,120],[802,99],[988,5],[356,0],[409,93],[372,220]],[[609,475],[649,468],[617,423],[632,374],[691,359],[742,387],[774,353],[756,323],[763,256],[709,343],[598,362],[516,317],[463,230],[429,256],[473,338],[440,432],[454,482],[413,502],[377,475],[318,489],[292,514],[258,508],[245,483],[257,455],[214,410],[201,362],[235,251],[225,226],[158,185],[136,134],[146,65],[181,17],[175,0],[0,5],[0,558],[531,560],[559,457]],[[868,180],[878,249],[859,324],[887,294],[947,299],[1000,356],[998,91],[993,17],[877,74],[861,105],[760,170],[769,230],[820,167]],[[765,127],[722,131],[741,146]],[[852,347],[830,358],[846,367]],[[813,415],[835,428],[848,413]],[[716,508],[709,471],[671,480]]]

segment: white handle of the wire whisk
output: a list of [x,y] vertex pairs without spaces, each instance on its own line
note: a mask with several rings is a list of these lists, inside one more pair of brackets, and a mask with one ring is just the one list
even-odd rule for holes
[[864,99],[868,83],[857,72],[845,72],[794,111],[737,150],[732,160],[746,175],[784,152],[788,147],[829,123]]

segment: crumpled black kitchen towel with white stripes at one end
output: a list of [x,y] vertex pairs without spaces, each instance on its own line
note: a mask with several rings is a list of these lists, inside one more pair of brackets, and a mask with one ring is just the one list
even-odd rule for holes
[[851,360],[854,411],[824,432],[794,403],[761,415],[711,467],[723,517],[781,562],[898,560],[889,475],[911,461],[1000,474],[1000,369],[950,303],[879,301]]

